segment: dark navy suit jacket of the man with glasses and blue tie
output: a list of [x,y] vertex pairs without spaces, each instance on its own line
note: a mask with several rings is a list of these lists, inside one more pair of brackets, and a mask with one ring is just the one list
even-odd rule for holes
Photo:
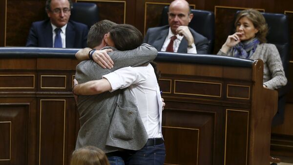
[[[85,48],[88,28],[85,24],[68,21],[66,27],[66,48]],[[53,47],[50,19],[32,23],[26,45],[30,47]]]

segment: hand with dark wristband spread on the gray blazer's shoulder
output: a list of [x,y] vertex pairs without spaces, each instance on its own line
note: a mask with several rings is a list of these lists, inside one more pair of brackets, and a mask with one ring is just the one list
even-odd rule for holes
[[110,56],[107,54],[108,52],[113,52],[113,50],[112,49],[96,50],[92,55],[93,60],[104,69],[106,68],[112,69],[114,64]]

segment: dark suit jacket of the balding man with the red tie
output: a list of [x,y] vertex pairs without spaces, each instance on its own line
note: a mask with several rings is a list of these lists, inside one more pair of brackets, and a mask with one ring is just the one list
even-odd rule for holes
[[[209,40],[206,37],[195,32],[190,27],[189,27],[189,30],[193,36],[197,54],[208,54]],[[169,32],[169,25],[149,28],[146,32],[144,43],[147,43],[155,47],[158,51],[161,51],[162,46],[165,42],[165,39],[168,36],[168,32]],[[187,53],[187,46],[188,46],[188,42],[185,38],[183,38],[177,52]]]

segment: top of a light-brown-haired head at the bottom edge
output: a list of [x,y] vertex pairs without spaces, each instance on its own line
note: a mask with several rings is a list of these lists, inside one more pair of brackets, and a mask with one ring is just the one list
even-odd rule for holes
[[109,162],[101,149],[87,146],[73,151],[70,165],[109,165]]

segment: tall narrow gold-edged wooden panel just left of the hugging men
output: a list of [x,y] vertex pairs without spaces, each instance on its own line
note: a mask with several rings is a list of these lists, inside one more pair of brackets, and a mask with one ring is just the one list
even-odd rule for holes
[[64,165],[65,104],[62,99],[40,100],[40,165]]

